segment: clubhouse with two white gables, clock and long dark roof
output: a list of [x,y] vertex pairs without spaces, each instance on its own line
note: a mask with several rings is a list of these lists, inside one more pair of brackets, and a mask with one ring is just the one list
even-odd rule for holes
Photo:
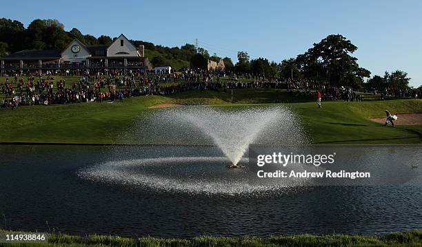
[[86,46],[74,39],[64,50],[22,50],[0,57],[1,74],[4,72],[31,72],[46,70],[99,71],[151,70],[143,46],[135,47],[123,34],[110,46]]

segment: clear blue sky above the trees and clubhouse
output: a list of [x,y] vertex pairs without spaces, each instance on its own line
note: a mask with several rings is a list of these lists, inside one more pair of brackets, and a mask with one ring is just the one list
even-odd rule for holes
[[2,1],[0,17],[26,27],[58,19],[65,30],[143,40],[161,46],[195,43],[220,57],[237,51],[270,61],[296,57],[329,34],[342,34],[359,49],[359,66],[373,75],[408,72],[422,85],[422,1]]

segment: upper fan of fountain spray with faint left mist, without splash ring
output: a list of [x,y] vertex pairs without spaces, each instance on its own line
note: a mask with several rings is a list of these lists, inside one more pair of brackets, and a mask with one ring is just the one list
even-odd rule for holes
[[[135,128],[143,142],[154,144],[215,145],[236,166],[250,144],[303,144],[305,135],[294,113],[284,106],[225,109],[172,108],[145,119]],[[148,126],[149,135],[142,131]],[[153,137],[151,137],[153,133]]]

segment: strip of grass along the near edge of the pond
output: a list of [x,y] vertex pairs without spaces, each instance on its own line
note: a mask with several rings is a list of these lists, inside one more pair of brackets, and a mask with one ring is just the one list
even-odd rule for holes
[[[3,231],[4,233],[5,231]],[[361,235],[290,235],[285,237],[194,237],[132,239],[117,236],[48,235],[48,243],[4,246],[422,246],[422,230],[390,233],[381,237]],[[1,244],[0,244],[1,246]]]

